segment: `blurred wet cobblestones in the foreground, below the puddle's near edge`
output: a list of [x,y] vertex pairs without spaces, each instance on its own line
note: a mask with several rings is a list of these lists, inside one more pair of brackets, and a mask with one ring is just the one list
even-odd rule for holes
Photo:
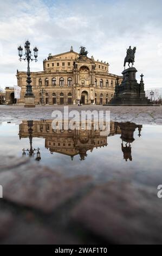
[[27,159],[0,156],[0,162],[1,244],[162,242],[155,186],[128,177],[97,185],[89,176],[66,178]]

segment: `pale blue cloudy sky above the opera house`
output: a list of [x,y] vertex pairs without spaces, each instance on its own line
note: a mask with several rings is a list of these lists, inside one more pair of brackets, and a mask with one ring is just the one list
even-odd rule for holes
[[37,45],[37,63],[43,70],[48,53],[86,46],[89,57],[110,64],[109,72],[120,75],[126,48],[137,46],[137,78],[145,75],[146,88],[162,87],[161,0],[5,0],[0,2],[0,87],[16,84],[16,70],[25,71],[17,46],[25,39]]

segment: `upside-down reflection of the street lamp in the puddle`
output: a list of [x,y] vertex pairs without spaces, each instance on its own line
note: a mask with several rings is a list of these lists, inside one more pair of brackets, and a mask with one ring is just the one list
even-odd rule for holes
[[40,149],[37,148],[37,149],[33,149],[33,145],[32,145],[32,141],[33,141],[33,136],[32,136],[32,133],[33,133],[33,120],[30,120],[28,121],[28,132],[29,132],[29,141],[30,141],[30,149],[22,149],[23,153],[22,153],[22,156],[25,156],[26,155],[26,152],[27,154],[31,157],[31,156],[34,156],[35,155],[35,151],[37,151],[37,156],[36,156],[36,159],[37,161],[40,161],[41,160],[41,153],[40,153]]

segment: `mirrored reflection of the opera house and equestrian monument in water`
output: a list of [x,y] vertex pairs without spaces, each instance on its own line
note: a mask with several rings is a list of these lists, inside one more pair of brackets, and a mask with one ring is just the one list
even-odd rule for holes
[[[19,136],[20,138],[27,138],[29,135],[33,138],[45,138],[46,149],[49,149],[51,153],[68,155],[72,160],[75,155],[80,155],[80,160],[85,160],[88,150],[92,152],[94,148],[107,146],[107,136],[101,136],[100,129],[95,130],[93,125],[91,130],[53,130],[51,123],[51,120],[24,120],[20,124]],[[133,133],[137,127],[140,134],[141,125],[110,123],[108,136],[121,134],[122,151],[126,161],[127,159],[132,160],[130,143],[134,141]],[[124,142],[126,142],[125,147]],[[127,143],[129,143],[128,146]]]

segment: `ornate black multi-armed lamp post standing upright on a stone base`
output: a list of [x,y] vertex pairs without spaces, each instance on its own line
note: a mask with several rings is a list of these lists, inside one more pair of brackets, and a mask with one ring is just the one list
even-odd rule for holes
[[[18,46],[18,56],[20,57],[20,61],[27,60],[28,62],[28,68],[27,68],[27,91],[25,93],[24,99],[25,99],[25,106],[24,107],[35,107],[35,96],[33,94],[32,86],[31,86],[31,77],[30,77],[30,60],[31,62],[35,60],[37,62],[38,57],[38,48],[35,46],[33,49],[34,52],[34,58],[31,58],[33,55],[31,54],[30,50],[30,42],[27,40],[24,44],[25,53],[23,54],[23,48],[22,46]],[[22,56],[24,55],[24,58]]]

